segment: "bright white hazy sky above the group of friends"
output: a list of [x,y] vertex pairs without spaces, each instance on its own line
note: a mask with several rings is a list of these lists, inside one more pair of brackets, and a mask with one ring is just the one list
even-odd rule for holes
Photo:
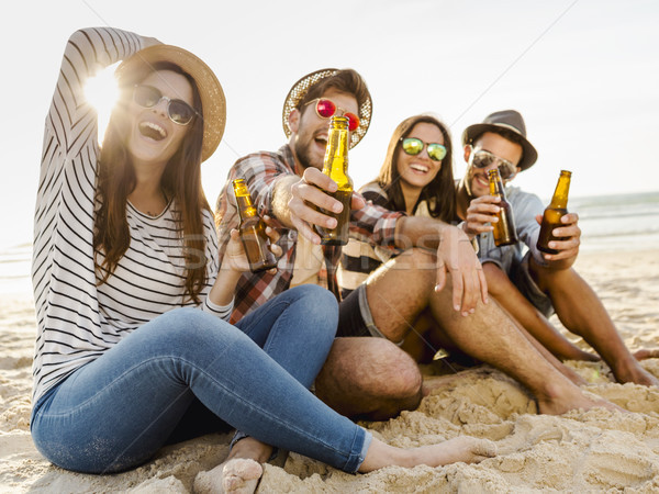
[[[211,204],[237,158],[284,144],[286,94],[325,67],[356,69],[372,96],[349,154],[357,187],[407,116],[435,113],[460,148],[465,127],[516,109],[539,158],[514,184],[546,199],[569,169],[572,197],[659,190],[656,1],[25,0],[2,19],[0,248],[32,240],[46,111],[68,36],[89,26],[179,45],[215,71],[227,124],[202,165]],[[461,153],[453,165],[461,177]]]

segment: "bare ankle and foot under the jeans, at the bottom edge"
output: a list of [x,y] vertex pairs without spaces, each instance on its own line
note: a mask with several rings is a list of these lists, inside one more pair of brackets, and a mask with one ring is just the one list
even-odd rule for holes
[[199,472],[194,478],[196,493],[250,494],[256,491],[264,474],[261,463],[272,453],[272,447],[252,437],[235,444],[228,458],[209,472]]

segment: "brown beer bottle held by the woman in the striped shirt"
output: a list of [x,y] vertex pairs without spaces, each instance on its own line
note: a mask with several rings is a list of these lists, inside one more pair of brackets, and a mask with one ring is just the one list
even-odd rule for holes
[[252,272],[266,271],[277,266],[277,258],[270,251],[270,238],[266,235],[266,222],[256,212],[252,203],[245,179],[233,181],[236,206],[238,207],[238,232]]

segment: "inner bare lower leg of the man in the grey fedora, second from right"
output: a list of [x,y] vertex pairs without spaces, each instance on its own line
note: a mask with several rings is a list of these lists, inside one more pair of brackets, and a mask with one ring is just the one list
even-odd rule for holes
[[534,307],[496,265],[485,262],[483,272],[488,291],[535,339],[561,360],[597,361],[597,356],[583,351],[561,335],[547,318]]

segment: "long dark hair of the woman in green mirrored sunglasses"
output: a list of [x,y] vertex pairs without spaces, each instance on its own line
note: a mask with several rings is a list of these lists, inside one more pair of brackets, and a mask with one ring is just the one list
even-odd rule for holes
[[382,164],[382,168],[380,168],[378,183],[384,192],[387,192],[389,198],[387,204],[388,209],[393,211],[406,211],[405,198],[401,189],[401,175],[398,170],[398,151],[402,145],[401,139],[407,137],[414,126],[418,123],[429,123],[439,128],[444,136],[446,156],[442,160],[442,168],[433,181],[423,188],[417,203],[414,204],[414,210],[416,210],[416,206],[421,201],[425,200],[427,201],[428,210],[433,217],[438,217],[439,220],[449,223],[454,220],[456,210],[456,189],[453,176],[453,146],[448,128],[435,116],[428,114],[410,116],[395,127],[391,141],[389,141],[384,162]]

